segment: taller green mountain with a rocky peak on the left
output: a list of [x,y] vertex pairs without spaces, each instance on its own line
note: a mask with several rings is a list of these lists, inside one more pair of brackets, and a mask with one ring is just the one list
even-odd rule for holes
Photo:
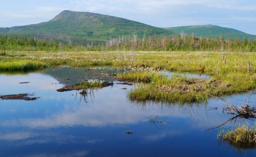
[[90,12],[62,11],[48,22],[0,28],[0,32],[7,34],[33,35],[40,34],[53,37],[87,38],[88,40],[109,40],[122,35],[137,34],[171,35],[173,31],[149,26],[124,18],[113,17]]

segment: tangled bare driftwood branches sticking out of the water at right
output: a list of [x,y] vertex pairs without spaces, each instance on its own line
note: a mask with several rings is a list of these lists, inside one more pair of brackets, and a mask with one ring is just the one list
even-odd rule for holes
[[[210,94],[208,94],[210,95]],[[213,95],[210,95],[211,97],[215,97]],[[256,108],[255,108],[255,103],[253,104],[253,107],[250,107],[249,106],[249,99],[250,99],[250,96],[247,98],[247,101],[246,103],[244,104],[244,106],[233,106],[231,105],[230,103],[228,103],[226,100],[220,98],[220,97],[215,97],[215,98],[218,98],[218,99],[221,99],[223,100],[225,103],[227,103],[227,105],[229,107],[226,107],[226,108],[223,108],[223,113],[225,114],[231,114],[231,115],[234,115],[233,117],[231,117],[229,120],[227,120],[225,123],[221,124],[220,126],[216,126],[216,127],[213,127],[213,128],[209,128],[207,130],[210,130],[210,129],[214,129],[214,128],[219,128],[223,125],[225,125],[226,123],[228,122],[232,122],[234,120],[234,122],[236,122],[236,120],[239,120],[239,119],[247,119],[247,120],[256,120]],[[245,121],[245,120],[244,120]]]

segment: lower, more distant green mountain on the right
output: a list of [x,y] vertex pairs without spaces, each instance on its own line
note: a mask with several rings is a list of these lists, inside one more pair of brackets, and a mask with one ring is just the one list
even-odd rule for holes
[[243,39],[244,37],[247,39],[256,39],[256,35],[247,34],[242,31],[238,31],[236,29],[230,29],[221,26],[215,25],[195,25],[195,26],[180,26],[180,27],[170,27],[166,28],[168,30],[175,31],[177,33],[184,32],[185,34],[194,33],[197,37],[219,37],[224,35],[226,37],[228,35],[229,38],[235,39],[239,37],[239,39]]

